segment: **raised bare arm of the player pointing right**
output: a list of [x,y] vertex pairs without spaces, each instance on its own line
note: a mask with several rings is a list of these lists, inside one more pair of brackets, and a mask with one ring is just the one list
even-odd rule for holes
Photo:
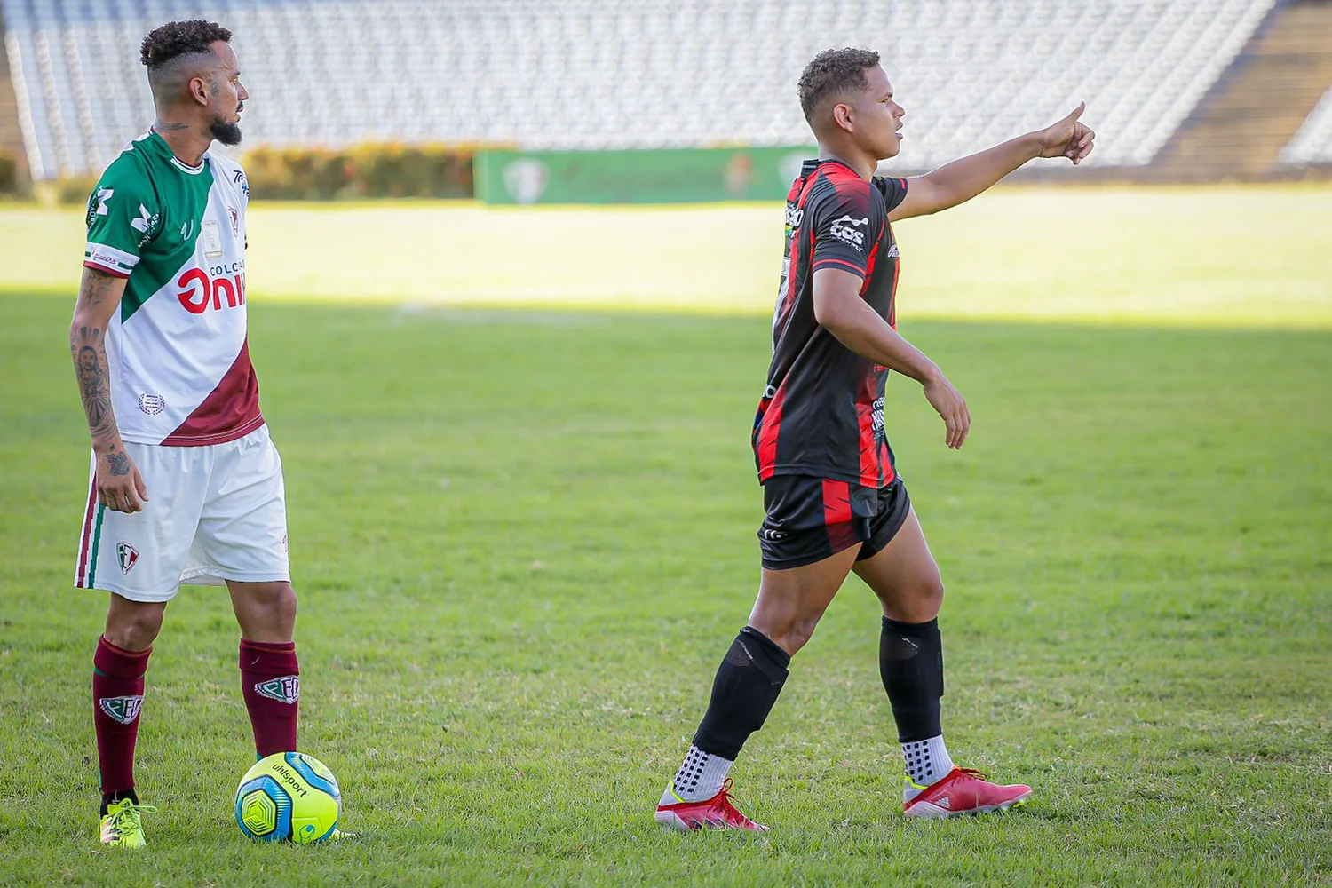
[[892,221],[928,216],[970,201],[1000,178],[1036,157],[1067,157],[1080,164],[1091,153],[1096,133],[1080,122],[1086,103],[1058,124],[1010,138],[978,154],[944,164],[939,169],[907,180],[906,200],[894,209]]

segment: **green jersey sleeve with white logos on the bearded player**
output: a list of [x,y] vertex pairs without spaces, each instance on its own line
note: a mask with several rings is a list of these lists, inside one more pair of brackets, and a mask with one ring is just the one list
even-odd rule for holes
[[129,277],[140,250],[161,228],[161,206],[152,182],[131,162],[112,164],[88,197],[87,224],[84,265]]

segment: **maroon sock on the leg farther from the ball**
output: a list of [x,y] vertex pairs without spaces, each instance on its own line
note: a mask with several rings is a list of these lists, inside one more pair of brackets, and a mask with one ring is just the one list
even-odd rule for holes
[[147,651],[127,651],[105,636],[97,639],[92,658],[92,723],[97,732],[97,764],[103,796],[135,785],[135,742],[139,712],[144,708]]

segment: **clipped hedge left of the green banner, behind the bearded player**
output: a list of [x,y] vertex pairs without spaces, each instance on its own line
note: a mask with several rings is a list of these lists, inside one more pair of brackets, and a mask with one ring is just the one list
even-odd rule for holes
[[[254,148],[241,165],[254,200],[332,201],[357,197],[472,197],[472,148],[357,145],[356,148]],[[0,158],[0,192],[4,165]],[[83,204],[96,176],[57,182],[63,204]]]

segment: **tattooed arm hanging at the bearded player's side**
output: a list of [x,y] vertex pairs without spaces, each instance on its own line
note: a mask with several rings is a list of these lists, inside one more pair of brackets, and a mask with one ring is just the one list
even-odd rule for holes
[[124,293],[124,277],[84,268],[79,304],[69,324],[69,355],[97,459],[97,495],[108,509],[131,513],[143,509],[140,499],[148,499],[148,491],[116,426],[105,343],[107,329]]

